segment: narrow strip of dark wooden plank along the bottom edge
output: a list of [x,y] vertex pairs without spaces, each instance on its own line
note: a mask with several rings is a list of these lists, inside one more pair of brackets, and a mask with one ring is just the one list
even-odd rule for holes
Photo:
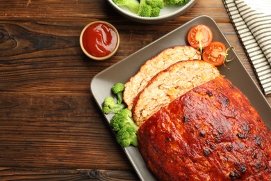
[[1,180],[139,180],[135,171],[0,167]]

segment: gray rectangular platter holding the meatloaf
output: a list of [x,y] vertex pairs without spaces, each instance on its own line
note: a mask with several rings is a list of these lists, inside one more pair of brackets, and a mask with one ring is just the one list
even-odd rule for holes
[[[110,92],[110,88],[117,82],[125,83],[126,81],[129,81],[130,77],[136,74],[140,66],[149,58],[156,56],[156,54],[168,47],[173,47],[176,45],[188,45],[186,40],[188,31],[192,28],[192,26],[197,24],[205,24],[211,28],[213,32],[213,41],[220,41],[223,42],[226,47],[231,47],[228,40],[224,37],[222,31],[211,17],[196,17],[190,22],[183,24],[174,31],[167,33],[165,36],[138,50],[138,52],[131,54],[122,61],[110,66],[106,70],[99,72],[99,74],[92,79],[90,84],[90,90],[92,95],[95,97],[99,108],[101,109],[101,105],[103,104],[105,97],[113,96]],[[233,85],[238,87],[240,91],[247,95],[252,103],[252,106],[257,109],[258,113],[265,121],[265,124],[271,129],[271,107],[268,104],[268,101],[265,99],[261,90],[254,83],[252,77],[250,77],[236,52],[230,51],[229,58],[233,56],[235,58],[233,61],[227,63],[227,68],[224,66],[220,66],[218,68],[220,73],[225,75],[225,77],[229,79]],[[112,115],[109,114],[104,116],[109,124]],[[132,146],[124,148],[124,152],[133,165],[133,168],[135,168],[136,173],[138,173],[140,180],[156,180],[154,175],[147,168],[147,165],[142,159],[138,148]]]

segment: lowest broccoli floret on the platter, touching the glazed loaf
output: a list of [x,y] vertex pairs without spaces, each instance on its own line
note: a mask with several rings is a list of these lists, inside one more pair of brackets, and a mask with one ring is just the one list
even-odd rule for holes
[[117,143],[127,147],[129,145],[138,146],[138,136],[136,135],[136,129],[129,126],[124,126],[116,134]]

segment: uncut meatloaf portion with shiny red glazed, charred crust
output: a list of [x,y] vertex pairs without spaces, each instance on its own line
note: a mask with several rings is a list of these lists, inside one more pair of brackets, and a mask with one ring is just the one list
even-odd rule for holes
[[271,132],[220,76],[160,109],[138,130],[159,180],[271,180]]

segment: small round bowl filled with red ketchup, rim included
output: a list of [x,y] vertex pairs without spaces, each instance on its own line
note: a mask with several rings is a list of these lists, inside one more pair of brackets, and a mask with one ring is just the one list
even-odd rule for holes
[[85,55],[103,61],[117,52],[120,36],[117,29],[108,22],[91,22],[81,32],[80,45]]

